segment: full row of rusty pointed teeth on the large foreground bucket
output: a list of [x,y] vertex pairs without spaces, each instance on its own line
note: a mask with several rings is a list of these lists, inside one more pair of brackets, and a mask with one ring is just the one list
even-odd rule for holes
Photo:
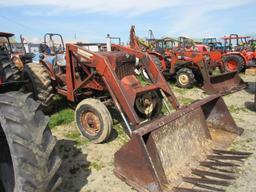
[[[242,161],[251,153],[213,150],[213,155],[208,155],[206,161],[201,161],[200,166],[207,168],[192,169],[191,173],[197,177],[183,177],[183,181],[199,189],[176,187],[175,192],[225,192],[223,187],[229,186],[231,180],[236,179],[234,167],[240,166],[232,161]],[[223,187],[215,187],[223,186]]]

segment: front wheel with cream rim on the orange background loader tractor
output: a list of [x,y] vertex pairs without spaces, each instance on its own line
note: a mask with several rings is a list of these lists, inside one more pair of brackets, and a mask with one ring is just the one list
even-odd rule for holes
[[195,83],[195,75],[189,68],[181,68],[176,74],[176,86],[180,88],[192,88]]

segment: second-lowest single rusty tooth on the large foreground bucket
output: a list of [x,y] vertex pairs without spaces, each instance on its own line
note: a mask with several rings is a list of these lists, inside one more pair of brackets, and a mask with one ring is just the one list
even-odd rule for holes
[[191,184],[210,184],[210,185],[221,185],[221,186],[230,185],[230,182],[225,180],[208,179],[208,178],[183,177],[183,181]]

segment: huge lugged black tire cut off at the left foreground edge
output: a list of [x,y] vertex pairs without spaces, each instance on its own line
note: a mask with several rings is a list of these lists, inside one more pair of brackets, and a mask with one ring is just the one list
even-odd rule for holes
[[50,192],[61,183],[57,173],[61,160],[56,155],[56,139],[47,128],[48,117],[29,95],[0,94],[3,192]]

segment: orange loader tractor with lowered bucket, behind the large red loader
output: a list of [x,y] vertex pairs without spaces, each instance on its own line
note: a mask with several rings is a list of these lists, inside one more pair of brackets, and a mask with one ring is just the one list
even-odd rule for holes
[[[184,40],[184,38],[182,38]],[[201,53],[191,50],[185,41],[179,41],[177,47],[172,47],[173,40],[164,38],[161,40],[150,41],[153,49],[144,48],[157,64],[160,71],[166,77],[176,77],[176,85],[182,88],[191,88],[195,82],[201,85],[202,89],[208,94],[221,93],[228,94],[239,91],[246,87],[246,84],[239,77],[237,72],[222,73],[212,75],[212,60],[221,62],[219,52]],[[184,44],[184,45],[183,45]],[[135,35],[135,27],[130,30],[130,47],[135,50],[141,49],[143,45]],[[217,62],[217,58],[218,62]],[[211,66],[211,67],[210,67]],[[142,74],[145,74],[142,71]],[[146,75],[144,75],[146,77]],[[147,78],[147,77],[146,77]]]

